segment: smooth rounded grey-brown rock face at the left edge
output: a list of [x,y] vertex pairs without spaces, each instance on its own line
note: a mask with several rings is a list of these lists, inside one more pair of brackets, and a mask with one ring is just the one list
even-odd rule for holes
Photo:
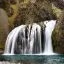
[[3,9],[0,9],[0,49],[4,49],[8,35],[8,17]]

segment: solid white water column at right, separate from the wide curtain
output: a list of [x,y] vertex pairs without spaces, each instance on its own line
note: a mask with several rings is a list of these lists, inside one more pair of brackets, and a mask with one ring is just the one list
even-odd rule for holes
[[52,46],[52,31],[54,30],[56,24],[56,20],[46,21],[45,25],[45,47],[44,47],[44,55],[53,55],[53,46]]

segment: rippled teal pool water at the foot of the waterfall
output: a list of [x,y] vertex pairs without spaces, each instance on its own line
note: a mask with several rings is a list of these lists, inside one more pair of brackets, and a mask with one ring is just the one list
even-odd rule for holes
[[64,64],[64,55],[0,55],[0,61],[20,64]]

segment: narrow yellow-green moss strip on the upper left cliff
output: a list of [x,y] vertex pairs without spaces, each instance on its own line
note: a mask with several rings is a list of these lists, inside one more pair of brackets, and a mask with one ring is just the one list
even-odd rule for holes
[[13,24],[14,23],[14,20],[15,20],[16,16],[18,15],[18,4],[17,3],[15,5],[10,4],[10,7],[12,7],[12,9],[14,11],[13,15],[11,17],[8,17],[9,30],[12,30],[13,27],[14,27],[14,24]]

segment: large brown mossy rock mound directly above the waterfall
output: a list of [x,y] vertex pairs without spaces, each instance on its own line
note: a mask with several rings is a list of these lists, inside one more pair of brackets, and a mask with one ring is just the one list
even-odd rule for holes
[[[24,4],[23,4],[24,6]],[[56,19],[53,14],[51,3],[48,0],[36,0],[29,2],[26,7],[20,7],[14,26]]]

